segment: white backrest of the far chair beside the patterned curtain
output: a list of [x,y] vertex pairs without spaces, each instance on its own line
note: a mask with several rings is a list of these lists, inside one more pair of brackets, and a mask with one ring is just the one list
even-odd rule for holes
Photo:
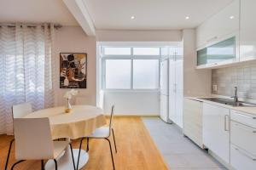
[[32,113],[32,105],[30,103],[24,103],[20,105],[13,105],[13,118],[22,118]]

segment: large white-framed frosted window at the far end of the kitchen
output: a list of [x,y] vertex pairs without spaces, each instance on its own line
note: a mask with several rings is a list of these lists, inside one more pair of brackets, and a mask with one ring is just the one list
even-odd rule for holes
[[[101,47],[102,88],[158,90],[160,57],[169,47]],[[163,54],[162,54],[163,53]]]

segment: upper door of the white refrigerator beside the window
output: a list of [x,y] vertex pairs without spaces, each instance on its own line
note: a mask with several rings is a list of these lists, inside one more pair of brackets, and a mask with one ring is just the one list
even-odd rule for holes
[[160,95],[168,95],[168,59],[160,63]]

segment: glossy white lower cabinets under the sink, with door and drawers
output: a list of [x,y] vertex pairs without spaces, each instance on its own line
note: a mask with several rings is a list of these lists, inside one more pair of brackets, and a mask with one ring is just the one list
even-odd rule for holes
[[203,144],[236,170],[256,170],[256,116],[203,103]]

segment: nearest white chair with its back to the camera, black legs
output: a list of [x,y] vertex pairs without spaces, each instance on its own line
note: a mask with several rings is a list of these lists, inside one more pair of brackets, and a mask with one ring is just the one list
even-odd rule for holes
[[[53,141],[51,139],[49,118],[16,118],[15,127],[15,162],[11,170],[25,160],[41,160],[44,169],[44,160],[53,159],[55,170],[58,169],[56,158],[66,150],[68,141]],[[70,149],[73,156],[72,146]],[[73,167],[74,167],[73,160]],[[75,169],[75,167],[74,167]]]

